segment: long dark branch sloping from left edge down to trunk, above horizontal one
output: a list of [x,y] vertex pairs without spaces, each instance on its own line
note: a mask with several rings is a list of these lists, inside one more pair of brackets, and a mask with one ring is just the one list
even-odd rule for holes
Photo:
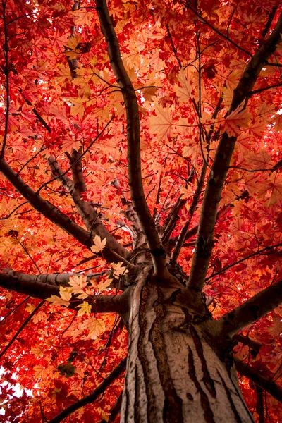
[[[35,210],[42,213],[43,216],[47,217],[47,219],[49,219],[56,226],[59,226],[59,228],[63,229],[63,231],[66,231],[66,233],[73,236],[82,245],[86,245],[88,248],[93,245],[91,233],[85,231],[85,229],[83,229],[77,223],[69,219],[66,214],[63,214],[61,210],[51,204],[48,200],[44,200],[42,197],[40,197],[40,195],[32,190],[32,188],[30,188],[30,186],[20,178],[20,176],[17,176],[16,172],[13,171],[13,169],[6,163],[6,161],[4,161],[4,159],[0,159],[0,171],[11,182],[14,188],[16,188],[16,190],[18,190],[18,192],[23,195],[25,200],[30,202]],[[108,231],[106,231],[106,233],[108,233]],[[105,236],[102,238],[105,238]],[[106,246],[101,255],[108,262],[121,262],[122,257],[119,252],[126,250],[114,239],[112,235],[109,234],[109,238],[113,238],[115,242],[110,243],[109,246]],[[115,248],[117,247],[116,244],[118,244],[118,252],[115,254]],[[111,248],[113,248],[113,251]]]

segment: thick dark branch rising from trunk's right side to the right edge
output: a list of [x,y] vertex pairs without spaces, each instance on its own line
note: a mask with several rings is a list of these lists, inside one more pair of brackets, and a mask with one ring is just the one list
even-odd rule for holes
[[282,302],[282,280],[273,283],[260,293],[243,302],[232,312],[224,314],[214,322],[224,335],[233,336],[236,332],[254,323],[264,314],[271,312]]

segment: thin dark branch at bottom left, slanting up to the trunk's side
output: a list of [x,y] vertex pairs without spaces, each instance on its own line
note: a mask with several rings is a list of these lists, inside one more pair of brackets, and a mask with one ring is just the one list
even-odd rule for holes
[[87,404],[94,403],[104,391],[106,391],[106,388],[114,382],[118,376],[121,376],[121,374],[125,371],[126,367],[126,358],[121,360],[121,362],[114,368],[114,370],[109,374],[109,376],[102,381],[99,386],[97,386],[96,389],[90,395],[87,395],[80,400],[76,401],[76,403],[73,403],[66,407],[63,411],[61,411],[54,419],[49,420],[49,423],[59,423],[62,422],[63,419],[68,417],[68,415],[71,415],[72,412],[75,412],[76,410],[79,410],[81,407],[84,407]]

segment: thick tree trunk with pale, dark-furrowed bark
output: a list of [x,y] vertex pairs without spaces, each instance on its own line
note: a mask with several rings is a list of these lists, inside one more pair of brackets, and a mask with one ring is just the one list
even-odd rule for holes
[[230,339],[212,335],[207,308],[180,300],[181,288],[146,275],[133,288],[121,422],[254,422]]

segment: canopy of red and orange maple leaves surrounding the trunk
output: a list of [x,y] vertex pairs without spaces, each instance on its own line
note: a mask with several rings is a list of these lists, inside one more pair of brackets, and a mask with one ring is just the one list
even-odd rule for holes
[[[281,25],[279,2],[109,1],[139,106],[140,150],[128,135],[129,100],[109,61],[99,3],[0,4],[1,422],[51,422],[126,357],[123,320],[100,313],[94,296],[121,295],[132,251],[149,240],[152,252],[151,229],[136,232],[136,219],[144,229],[148,215],[131,202],[139,165],[171,265],[203,278],[214,319],[282,278],[281,38],[262,51]],[[224,164],[223,154],[216,173],[222,137],[232,158]],[[203,205],[216,178],[223,190]],[[198,245],[210,259],[195,268],[199,223],[213,235]],[[275,307],[234,336],[233,351],[281,386]],[[65,421],[118,422],[124,369]],[[281,421],[278,396],[239,377],[255,420]]]

